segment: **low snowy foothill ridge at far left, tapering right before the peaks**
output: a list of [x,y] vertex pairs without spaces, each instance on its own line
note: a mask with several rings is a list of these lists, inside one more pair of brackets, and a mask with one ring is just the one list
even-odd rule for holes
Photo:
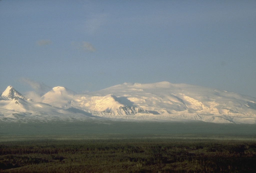
[[18,97],[7,101],[5,105],[0,108],[0,112],[0,120],[9,120],[13,122],[48,122],[52,120],[84,121],[94,117],[87,112],[77,112],[74,109],[65,110],[46,103],[25,100]]

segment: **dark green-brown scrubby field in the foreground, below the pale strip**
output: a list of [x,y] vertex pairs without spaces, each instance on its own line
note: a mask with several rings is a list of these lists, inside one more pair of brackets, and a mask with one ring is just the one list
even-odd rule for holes
[[0,172],[255,171],[253,140],[151,136],[0,143]]

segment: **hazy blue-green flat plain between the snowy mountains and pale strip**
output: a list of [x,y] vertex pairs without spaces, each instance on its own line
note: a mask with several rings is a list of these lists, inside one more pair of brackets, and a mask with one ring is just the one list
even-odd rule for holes
[[0,135],[59,134],[225,134],[256,136],[256,124],[216,124],[206,122],[77,121],[1,122]]

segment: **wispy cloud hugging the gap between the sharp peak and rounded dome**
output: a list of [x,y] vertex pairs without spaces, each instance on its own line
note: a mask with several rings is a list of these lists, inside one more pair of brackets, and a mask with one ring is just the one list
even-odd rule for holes
[[25,94],[25,96],[28,98],[31,98],[35,101],[40,101],[41,96],[44,95],[45,93],[47,93],[49,90],[51,90],[51,87],[47,86],[44,83],[39,83],[39,82],[24,78],[24,77],[20,78],[20,82],[22,82],[25,85],[30,86],[33,89],[33,91],[28,91]]

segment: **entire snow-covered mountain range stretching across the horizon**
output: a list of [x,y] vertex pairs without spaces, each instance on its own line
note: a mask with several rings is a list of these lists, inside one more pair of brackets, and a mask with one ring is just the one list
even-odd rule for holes
[[2,121],[151,120],[256,123],[256,98],[220,89],[159,82],[115,85],[77,94],[54,87],[41,102],[8,86],[0,98]]

